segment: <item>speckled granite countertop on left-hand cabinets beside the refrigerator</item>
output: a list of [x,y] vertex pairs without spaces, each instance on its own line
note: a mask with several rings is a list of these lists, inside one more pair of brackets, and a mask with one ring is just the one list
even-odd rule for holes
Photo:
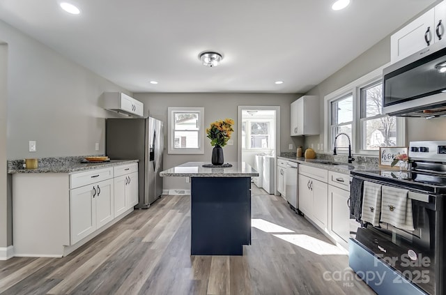
[[36,169],[8,167],[8,174],[15,173],[72,173],[85,170],[114,167],[118,165],[139,162],[139,160],[110,160],[109,162],[82,163],[82,162],[57,162],[55,165],[45,165]]

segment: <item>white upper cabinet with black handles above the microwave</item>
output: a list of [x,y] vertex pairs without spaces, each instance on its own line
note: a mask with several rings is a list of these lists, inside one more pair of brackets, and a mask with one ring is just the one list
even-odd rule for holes
[[396,63],[433,43],[445,42],[445,21],[446,1],[443,1],[394,33],[390,39],[391,63]]

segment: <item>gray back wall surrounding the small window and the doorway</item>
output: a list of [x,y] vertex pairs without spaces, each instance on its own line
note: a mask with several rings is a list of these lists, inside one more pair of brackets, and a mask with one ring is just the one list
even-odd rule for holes
[[[151,116],[164,121],[164,134],[167,146],[167,107],[204,107],[204,124],[218,119],[231,118],[237,125],[237,107],[239,105],[278,105],[280,106],[280,147],[278,150],[289,151],[289,144],[295,144],[290,136],[290,104],[298,98],[296,94],[266,93],[134,93],[134,98],[144,103]],[[235,126],[236,130],[237,126]],[[224,161],[237,160],[237,133],[233,133],[233,146],[224,146]],[[164,169],[189,161],[210,162],[212,146],[205,137],[203,155],[170,155],[165,153]],[[279,151],[277,151],[279,153]],[[190,189],[185,179],[177,177],[164,178],[164,189]]]

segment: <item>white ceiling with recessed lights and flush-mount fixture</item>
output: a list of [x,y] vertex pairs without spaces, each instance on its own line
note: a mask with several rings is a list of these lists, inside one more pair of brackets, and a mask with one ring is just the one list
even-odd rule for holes
[[436,2],[66,0],[69,15],[58,1],[0,0],[0,19],[132,92],[268,93],[305,93]]

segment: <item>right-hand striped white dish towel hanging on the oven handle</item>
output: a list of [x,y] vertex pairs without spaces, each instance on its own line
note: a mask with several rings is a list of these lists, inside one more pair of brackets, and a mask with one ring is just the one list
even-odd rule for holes
[[381,222],[387,222],[399,229],[413,231],[412,200],[408,190],[383,186]]

